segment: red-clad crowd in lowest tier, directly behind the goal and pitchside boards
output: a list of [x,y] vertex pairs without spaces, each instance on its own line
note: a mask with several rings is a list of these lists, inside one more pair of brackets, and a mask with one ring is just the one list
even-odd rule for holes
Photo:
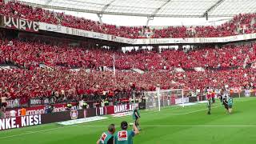
[[[109,98],[129,98],[132,94],[131,83],[136,90],[189,88],[204,90],[206,86],[222,88],[223,86],[254,86],[255,69],[206,70],[202,72],[187,71],[170,73],[151,71],[145,74],[134,72],[110,71],[77,72],[57,69],[54,71],[36,68],[35,70],[0,70],[0,95],[7,98],[21,98],[26,102],[29,98],[82,98],[83,95],[105,95]],[[125,95],[126,93],[126,95]],[[81,96],[81,97],[79,97]],[[94,101],[98,97],[85,97]],[[96,99],[95,99],[96,98]]]

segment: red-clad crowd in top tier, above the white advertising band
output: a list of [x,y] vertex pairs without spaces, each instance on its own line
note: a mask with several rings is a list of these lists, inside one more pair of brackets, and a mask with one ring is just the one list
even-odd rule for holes
[[238,14],[229,22],[216,27],[167,26],[161,29],[149,26],[114,26],[94,22],[86,18],[78,18],[64,13],[55,13],[42,8],[26,6],[18,2],[0,3],[0,14],[125,38],[207,38],[250,34],[256,30],[256,14]]

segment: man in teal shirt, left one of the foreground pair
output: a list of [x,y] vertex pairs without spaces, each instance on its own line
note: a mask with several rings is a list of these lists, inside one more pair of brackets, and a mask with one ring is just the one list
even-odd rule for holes
[[115,126],[114,124],[110,124],[108,127],[108,131],[102,133],[101,138],[98,139],[97,144],[113,144],[114,142],[114,134]]

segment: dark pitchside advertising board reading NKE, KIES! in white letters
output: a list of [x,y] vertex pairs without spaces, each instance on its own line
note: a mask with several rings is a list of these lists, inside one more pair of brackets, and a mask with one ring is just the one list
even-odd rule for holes
[[[138,106],[138,103],[136,104]],[[56,105],[55,105],[56,106]],[[62,106],[62,104],[60,105]],[[62,106],[64,110],[64,106]],[[76,107],[73,107],[75,109]],[[53,122],[63,122],[68,120],[91,118],[94,116],[102,116],[106,114],[118,114],[123,112],[129,112],[134,110],[134,106],[131,104],[117,105],[117,106],[104,106],[97,108],[90,108],[85,110],[66,110],[61,112],[55,112],[51,114],[45,114],[44,110],[40,106],[34,106],[27,108],[26,116],[18,116],[12,118],[0,119],[0,130],[17,129],[26,126],[37,126]],[[18,110],[19,111],[19,110]],[[28,113],[28,111],[30,111]],[[31,113],[33,112],[33,113]]]

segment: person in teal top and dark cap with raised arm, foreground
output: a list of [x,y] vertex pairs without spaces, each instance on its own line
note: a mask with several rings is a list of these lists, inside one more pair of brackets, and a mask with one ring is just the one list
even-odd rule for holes
[[135,135],[139,134],[138,128],[134,124],[134,130],[127,130],[128,123],[121,122],[121,129],[118,133],[114,134],[114,144],[133,144],[133,138]]

